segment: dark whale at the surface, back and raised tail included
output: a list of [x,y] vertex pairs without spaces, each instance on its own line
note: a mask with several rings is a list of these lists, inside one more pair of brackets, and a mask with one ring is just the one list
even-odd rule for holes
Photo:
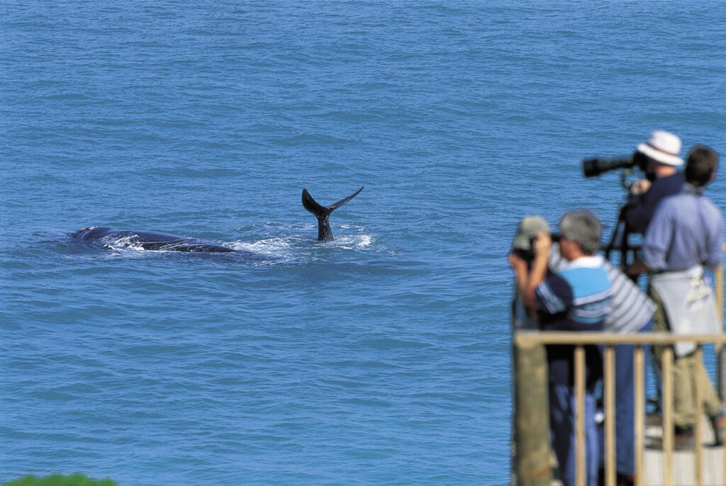
[[[363,190],[363,187],[350,196],[340,199],[330,206],[319,205],[307,189],[303,189],[303,207],[315,215],[318,221],[318,241],[332,242],[333,231],[330,229],[330,213],[346,204]],[[110,228],[108,226],[88,226],[69,234],[81,242],[102,244],[104,247],[129,247],[155,252],[203,252],[232,253],[242,252],[225,247],[219,243],[205,239],[163,233],[160,231],[136,231],[131,229]]]

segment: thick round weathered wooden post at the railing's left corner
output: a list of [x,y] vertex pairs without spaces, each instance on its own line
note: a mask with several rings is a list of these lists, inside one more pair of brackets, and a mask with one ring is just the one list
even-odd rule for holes
[[547,356],[544,346],[515,345],[514,470],[519,486],[549,486],[550,407],[547,397]]

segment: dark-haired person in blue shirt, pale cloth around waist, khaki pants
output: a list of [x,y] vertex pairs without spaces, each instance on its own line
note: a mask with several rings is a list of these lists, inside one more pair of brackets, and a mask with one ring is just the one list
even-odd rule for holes
[[[718,155],[708,147],[695,147],[688,155],[682,191],[667,197],[656,208],[643,239],[643,264],[630,273],[647,269],[648,292],[658,308],[653,331],[674,334],[722,332],[711,286],[703,266],[714,270],[722,262],[723,217],[703,195],[714,180]],[[703,410],[714,429],[715,443],[724,439],[725,413],[711,379],[696,359],[696,344],[674,345],[674,423],[677,448],[693,445],[696,416],[695,387],[700,384]],[[663,347],[655,347],[660,366]]]

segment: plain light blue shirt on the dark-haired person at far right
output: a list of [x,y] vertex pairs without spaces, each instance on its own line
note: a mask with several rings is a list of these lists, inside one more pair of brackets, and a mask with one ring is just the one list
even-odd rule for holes
[[643,240],[643,261],[651,271],[686,270],[721,265],[723,217],[703,189],[685,184],[663,199]]

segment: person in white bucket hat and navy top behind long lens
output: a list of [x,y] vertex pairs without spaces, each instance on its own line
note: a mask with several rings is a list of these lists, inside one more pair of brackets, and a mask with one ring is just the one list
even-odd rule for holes
[[683,173],[676,169],[683,165],[683,159],[678,156],[680,150],[680,138],[662,130],[653,131],[645,144],[637,146],[634,158],[645,157],[639,162],[645,179],[630,186],[628,202],[623,208],[631,232],[645,234],[658,202],[680,192]]

